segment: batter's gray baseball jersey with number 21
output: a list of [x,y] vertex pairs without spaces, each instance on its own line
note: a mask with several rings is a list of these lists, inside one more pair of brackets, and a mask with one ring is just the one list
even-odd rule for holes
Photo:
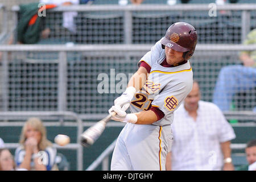
[[174,119],[174,111],[188,95],[193,85],[193,72],[189,61],[177,67],[160,65],[165,59],[162,44],[157,42],[141,61],[151,67],[150,74],[142,90],[139,90],[131,101],[131,113],[158,107],[164,118],[152,125],[170,125]]

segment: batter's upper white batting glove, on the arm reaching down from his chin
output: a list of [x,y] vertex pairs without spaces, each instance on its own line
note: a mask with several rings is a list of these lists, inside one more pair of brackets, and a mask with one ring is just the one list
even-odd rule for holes
[[[120,97],[117,97],[114,100],[114,106],[116,107],[116,109],[122,109],[123,111],[126,111],[130,106],[130,102],[133,99],[135,92],[136,89],[133,86],[129,86],[128,88],[126,88],[125,92],[123,92]],[[124,113],[120,114],[123,116]]]

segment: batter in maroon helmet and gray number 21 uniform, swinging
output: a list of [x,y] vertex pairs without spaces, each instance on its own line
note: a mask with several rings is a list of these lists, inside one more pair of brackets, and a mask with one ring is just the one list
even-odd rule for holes
[[[109,109],[127,122],[114,148],[111,170],[165,170],[171,150],[174,111],[191,92],[189,58],[197,43],[191,24],[172,24],[166,35],[138,63],[125,92]],[[130,114],[126,110],[130,106]]]

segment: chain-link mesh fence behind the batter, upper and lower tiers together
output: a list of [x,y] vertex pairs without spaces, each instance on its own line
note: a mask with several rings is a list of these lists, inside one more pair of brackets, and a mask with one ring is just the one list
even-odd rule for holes
[[[232,44],[242,44],[247,33],[256,28],[255,5],[218,6],[217,16],[209,16],[208,6],[118,6],[80,5],[47,10],[43,27],[51,31],[47,44],[53,49],[63,46],[80,48],[74,44],[95,45],[95,49],[65,52],[22,49],[2,56],[2,110],[69,110],[80,114],[103,114],[122,91],[119,73],[126,76],[137,69],[137,62],[151,46],[164,36],[168,26],[184,21],[196,27],[199,45],[212,48],[226,45],[227,49],[198,49],[191,59],[194,77],[200,82],[203,100],[213,101],[214,87],[221,68],[241,64],[239,53]],[[18,14],[19,9],[13,9]],[[65,13],[77,12],[71,22],[76,33],[63,27]],[[19,16],[18,16],[19,17]],[[67,23],[67,22],[66,22]],[[71,43],[72,42],[72,43]],[[101,45],[101,46],[96,46]],[[102,51],[114,44],[141,45],[138,50],[118,49]],[[59,46],[58,46],[59,45]],[[105,45],[105,46],[103,46]],[[216,45],[216,46],[214,46]],[[125,46],[121,46],[125,47]],[[129,46],[128,46],[129,47]],[[147,49],[145,49],[147,47]],[[31,46],[33,48],[33,46]],[[17,51],[19,49],[20,51]],[[64,51],[64,56],[60,52]],[[60,64],[62,63],[62,64]],[[108,89],[99,92],[101,74],[108,76]],[[118,80],[119,79],[119,80]],[[254,79],[254,78],[252,78]],[[232,94],[232,110],[253,110],[255,89],[236,90]]]

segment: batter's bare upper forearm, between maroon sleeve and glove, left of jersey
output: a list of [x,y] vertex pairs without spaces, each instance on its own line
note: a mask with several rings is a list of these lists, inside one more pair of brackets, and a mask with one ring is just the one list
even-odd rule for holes
[[144,67],[140,67],[136,73],[130,78],[127,88],[133,86],[136,91],[141,90],[142,86],[147,80],[147,70]]

